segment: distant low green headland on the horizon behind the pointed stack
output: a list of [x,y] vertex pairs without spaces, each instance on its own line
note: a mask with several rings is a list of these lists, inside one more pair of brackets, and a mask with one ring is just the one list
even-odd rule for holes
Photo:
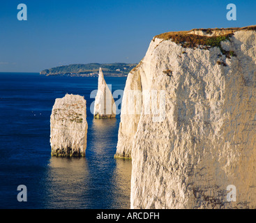
[[127,77],[137,63],[86,63],[70,64],[56,68],[45,69],[40,75],[61,75],[70,77],[98,77],[98,69],[102,68],[106,77]]

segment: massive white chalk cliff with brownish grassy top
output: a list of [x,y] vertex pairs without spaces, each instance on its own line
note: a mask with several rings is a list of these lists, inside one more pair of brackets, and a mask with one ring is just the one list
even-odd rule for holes
[[255,30],[153,38],[121,110],[116,157],[133,160],[131,208],[256,208]]

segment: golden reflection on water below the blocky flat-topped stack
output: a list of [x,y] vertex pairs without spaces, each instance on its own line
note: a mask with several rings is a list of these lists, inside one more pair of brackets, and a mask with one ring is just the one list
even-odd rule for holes
[[46,208],[87,208],[89,171],[84,158],[52,157],[47,174]]

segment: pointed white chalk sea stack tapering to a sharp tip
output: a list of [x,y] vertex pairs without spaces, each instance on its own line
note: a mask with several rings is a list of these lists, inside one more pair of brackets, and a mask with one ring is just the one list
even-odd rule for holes
[[114,118],[116,116],[116,104],[105,82],[101,68],[98,74],[98,92],[94,102],[93,113],[94,118]]

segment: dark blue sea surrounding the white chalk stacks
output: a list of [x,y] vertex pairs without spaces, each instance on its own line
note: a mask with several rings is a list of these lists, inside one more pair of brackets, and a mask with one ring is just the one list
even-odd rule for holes
[[[126,83],[105,80],[112,92]],[[96,77],[0,73],[0,208],[130,208],[131,161],[114,159],[120,116],[93,119],[97,86]],[[86,157],[51,157],[52,106],[66,93],[86,99]],[[17,201],[18,185],[27,202]]]

